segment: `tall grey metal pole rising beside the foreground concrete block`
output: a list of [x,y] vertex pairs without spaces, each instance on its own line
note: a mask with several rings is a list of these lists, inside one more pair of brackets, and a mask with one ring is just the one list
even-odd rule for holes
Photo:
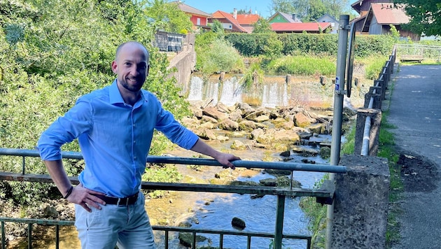
[[[338,50],[337,50],[337,73],[335,77],[334,115],[332,118],[332,141],[330,165],[337,165],[340,160],[340,147],[342,142],[342,116],[344,99],[344,78],[346,71],[346,53],[348,47],[349,15],[340,15]],[[334,180],[334,173],[330,173],[330,180]],[[328,205],[326,213],[326,240],[325,248],[330,248],[332,235],[332,220],[334,218],[334,204]]]

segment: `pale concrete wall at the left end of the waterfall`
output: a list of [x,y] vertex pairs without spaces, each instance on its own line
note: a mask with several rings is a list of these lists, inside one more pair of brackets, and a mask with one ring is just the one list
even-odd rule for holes
[[188,92],[190,76],[196,66],[195,34],[188,34],[183,42],[183,50],[173,57],[167,69],[173,72],[168,77],[175,77],[178,85],[183,88],[182,93]]

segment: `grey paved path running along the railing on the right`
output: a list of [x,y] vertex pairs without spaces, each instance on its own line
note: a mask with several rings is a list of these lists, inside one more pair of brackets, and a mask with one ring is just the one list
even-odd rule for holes
[[[387,120],[397,127],[390,129],[397,150],[441,172],[441,66],[400,66],[393,76]],[[434,183],[433,190],[405,191],[402,239],[394,249],[441,248],[441,181]]]

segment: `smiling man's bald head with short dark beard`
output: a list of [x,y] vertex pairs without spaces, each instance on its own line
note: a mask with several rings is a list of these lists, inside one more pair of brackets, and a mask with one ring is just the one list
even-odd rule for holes
[[116,49],[112,71],[117,74],[118,85],[130,92],[138,92],[148,76],[148,50],[136,41],[121,44]]

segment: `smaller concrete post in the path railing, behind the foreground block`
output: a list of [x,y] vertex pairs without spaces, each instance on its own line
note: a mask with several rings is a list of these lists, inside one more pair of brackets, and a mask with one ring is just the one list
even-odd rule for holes
[[363,134],[365,130],[365,122],[367,117],[370,117],[371,120],[368,155],[376,156],[378,152],[378,143],[379,143],[379,128],[381,125],[381,110],[379,109],[358,109],[355,145],[353,148],[353,153],[356,155],[361,154],[361,148],[363,146]]

